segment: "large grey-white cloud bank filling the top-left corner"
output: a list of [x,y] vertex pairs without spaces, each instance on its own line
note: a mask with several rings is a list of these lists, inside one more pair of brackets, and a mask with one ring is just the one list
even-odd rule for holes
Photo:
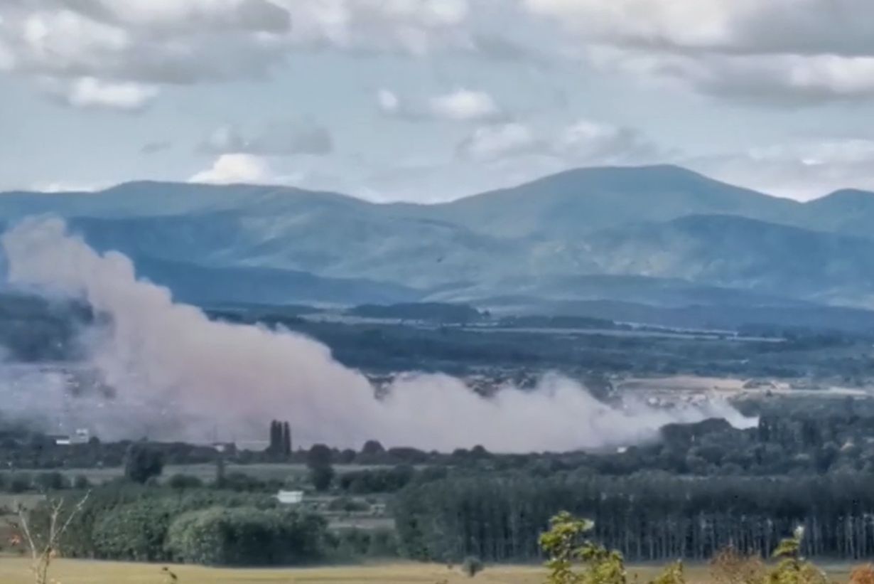
[[261,79],[295,51],[465,46],[468,12],[468,0],[6,0],[0,70],[70,95],[95,84],[89,107],[145,105],[131,88]]

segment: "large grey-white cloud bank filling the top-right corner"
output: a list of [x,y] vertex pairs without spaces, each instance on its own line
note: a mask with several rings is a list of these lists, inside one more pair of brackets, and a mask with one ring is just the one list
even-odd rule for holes
[[745,101],[874,96],[874,4],[863,0],[523,1],[607,70]]

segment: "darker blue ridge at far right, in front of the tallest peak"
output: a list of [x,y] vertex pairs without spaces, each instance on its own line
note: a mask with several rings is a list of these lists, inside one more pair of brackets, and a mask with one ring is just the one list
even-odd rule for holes
[[867,238],[691,215],[600,231],[582,245],[606,273],[874,306],[874,240]]

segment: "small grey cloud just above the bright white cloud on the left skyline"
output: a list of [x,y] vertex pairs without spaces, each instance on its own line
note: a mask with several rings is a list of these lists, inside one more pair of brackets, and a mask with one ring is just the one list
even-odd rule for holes
[[200,145],[200,150],[210,154],[323,156],[334,150],[334,140],[326,128],[314,123],[274,122],[250,137],[234,126],[218,128]]

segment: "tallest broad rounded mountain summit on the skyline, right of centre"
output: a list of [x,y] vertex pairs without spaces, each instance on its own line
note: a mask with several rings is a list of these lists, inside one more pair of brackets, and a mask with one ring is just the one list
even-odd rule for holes
[[635,222],[731,214],[779,220],[794,201],[708,179],[677,166],[581,168],[434,208],[434,214],[484,233],[579,236]]

